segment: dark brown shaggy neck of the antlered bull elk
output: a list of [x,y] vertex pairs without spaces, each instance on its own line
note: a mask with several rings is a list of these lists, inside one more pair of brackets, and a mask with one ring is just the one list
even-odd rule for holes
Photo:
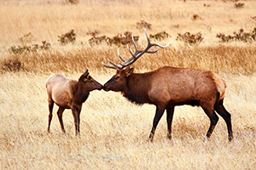
[[148,75],[146,74],[132,74],[127,78],[126,88],[122,94],[126,99],[137,105],[150,104],[151,102],[148,99],[150,83],[148,80]]

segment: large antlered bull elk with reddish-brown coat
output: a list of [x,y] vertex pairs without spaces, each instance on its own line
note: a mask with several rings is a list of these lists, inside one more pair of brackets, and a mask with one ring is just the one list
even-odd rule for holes
[[[156,106],[153,127],[149,135],[150,141],[153,141],[155,129],[165,110],[167,114],[167,137],[172,138],[172,117],[177,105],[201,106],[211,121],[207,138],[210,138],[218,122],[218,116],[215,112],[217,111],[218,115],[222,116],[226,122],[229,140],[231,141],[233,139],[231,116],[223,105],[226,84],[217,74],[212,71],[171,66],[160,67],[155,71],[142,74],[133,73],[134,69],[130,68],[129,65],[143,54],[154,54],[159,48],[166,48],[169,45],[161,46],[151,43],[146,30],[145,33],[148,39],[147,48],[138,50],[136,43],[133,41],[134,53],[127,45],[132,56],[130,59],[123,59],[118,51],[119,58],[124,63],[116,65],[109,59],[111,65],[104,65],[102,62],[105,67],[117,70],[116,74],[104,84],[103,89],[120,92],[126,99],[137,105],[148,103]],[[153,46],[158,48],[155,51],[148,51]]]

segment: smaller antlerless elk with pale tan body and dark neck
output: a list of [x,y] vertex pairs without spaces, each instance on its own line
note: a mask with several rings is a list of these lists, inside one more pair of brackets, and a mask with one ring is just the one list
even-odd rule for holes
[[48,104],[49,104],[49,126],[52,119],[52,111],[54,104],[59,106],[57,115],[61,124],[61,130],[65,133],[62,121],[62,113],[65,109],[71,109],[73,113],[76,135],[79,135],[80,112],[84,101],[89,97],[90,91],[95,89],[101,90],[102,84],[96,82],[89,76],[88,70],[79,77],[79,81],[69,80],[59,74],[55,74],[46,82]]

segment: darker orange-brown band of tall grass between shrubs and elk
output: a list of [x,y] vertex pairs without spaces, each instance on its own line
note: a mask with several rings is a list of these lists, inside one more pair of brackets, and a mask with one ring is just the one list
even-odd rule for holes
[[[162,43],[163,44],[163,43]],[[132,47],[133,48],[133,47]],[[143,48],[143,47],[140,47]],[[129,59],[127,48],[119,48],[124,59]],[[37,73],[51,72],[82,72],[86,68],[90,70],[109,71],[102,66],[102,61],[108,64],[111,59],[119,64],[117,47],[102,48],[72,48],[68,50],[51,49],[39,53],[6,54],[0,59],[0,71],[9,71],[6,66],[10,61],[20,61],[21,71],[32,71]],[[256,46],[212,46],[212,47],[179,47],[160,49],[156,54],[144,54],[141,59],[132,65],[136,71],[142,69],[154,70],[163,65],[176,67],[190,67],[215,72],[226,72],[232,74],[253,75],[256,71]],[[113,72],[113,71],[112,71]]]

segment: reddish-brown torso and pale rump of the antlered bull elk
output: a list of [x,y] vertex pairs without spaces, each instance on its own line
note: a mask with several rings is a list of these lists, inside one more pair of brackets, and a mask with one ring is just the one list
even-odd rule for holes
[[200,105],[212,96],[224,98],[225,82],[212,71],[165,66],[150,75],[148,98],[154,104]]

